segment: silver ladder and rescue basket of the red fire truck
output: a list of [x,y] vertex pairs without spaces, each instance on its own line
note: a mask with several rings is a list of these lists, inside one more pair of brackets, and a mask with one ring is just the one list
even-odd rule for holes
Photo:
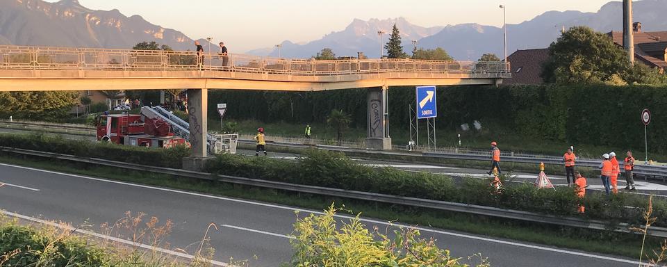
[[[188,142],[190,142],[190,124],[185,120],[182,120],[178,116],[174,115],[170,111],[167,111],[161,106],[143,106],[141,108],[141,115],[146,116],[147,118],[160,118],[165,120],[172,126],[172,132]],[[234,138],[236,139],[236,138]],[[233,143],[227,143],[220,139],[220,136],[215,136],[208,134],[206,136],[207,150],[209,154],[217,154],[220,152],[229,152],[236,153],[236,140]],[[228,147],[231,146],[232,147]]]

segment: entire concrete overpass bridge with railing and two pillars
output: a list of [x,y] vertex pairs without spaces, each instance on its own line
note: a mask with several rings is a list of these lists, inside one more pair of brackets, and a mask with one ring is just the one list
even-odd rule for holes
[[[209,89],[323,91],[368,88],[368,144],[390,147],[390,86],[498,84],[509,63],[411,59],[313,60],[140,51],[0,46],[0,91],[188,89],[193,156],[206,156]],[[375,127],[381,126],[381,129]]]

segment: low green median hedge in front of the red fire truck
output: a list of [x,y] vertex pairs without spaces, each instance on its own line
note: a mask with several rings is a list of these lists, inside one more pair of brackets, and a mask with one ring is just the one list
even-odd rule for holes
[[190,149],[187,147],[174,147],[170,149],[131,147],[110,143],[72,141],[59,136],[47,136],[42,133],[31,135],[0,133],[0,146],[167,168],[181,168],[183,158],[190,155]]

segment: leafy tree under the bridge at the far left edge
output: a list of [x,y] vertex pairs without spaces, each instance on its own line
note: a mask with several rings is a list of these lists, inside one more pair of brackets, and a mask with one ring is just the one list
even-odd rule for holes
[[79,92],[0,92],[0,113],[14,118],[59,120],[79,101]]

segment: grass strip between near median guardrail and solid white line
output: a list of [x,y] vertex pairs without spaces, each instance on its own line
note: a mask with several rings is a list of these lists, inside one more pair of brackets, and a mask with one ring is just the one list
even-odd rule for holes
[[[604,254],[621,255],[637,258],[641,248],[641,236],[636,234],[622,234],[609,231],[577,229],[574,227],[560,227],[527,223],[517,220],[475,216],[464,213],[435,211],[404,207],[394,204],[349,200],[339,197],[325,197],[303,193],[290,193],[267,188],[251,188],[233,184],[224,184],[215,181],[201,181],[184,177],[170,177],[154,173],[135,172],[119,168],[108,168],[96,165],[85,165],[68,161],[33,158],[29,156],[17,157],[3,154],[0,162],[23,165],[44,170],[90,175],[119,181],[130,181],[138,184],[149,184],[167,188],[177,188],[186,191],[196,191],[211,195],[239,197],[247,200],[259,200],[289,206],[322,210],[332,202],[345,205],[345,209],[361,212],[368,218],[392,220],[411,225],[425,225],[439,229],[450,229],[482,236],[508,238],[516,241],[527,241],[554,245],[560,248],[600,252]],[[648,251],[659,248],[659,238],[649,238]],[[647,251],[647,250],[645,250]],[[493,261],[492,261],[493,262]]]

